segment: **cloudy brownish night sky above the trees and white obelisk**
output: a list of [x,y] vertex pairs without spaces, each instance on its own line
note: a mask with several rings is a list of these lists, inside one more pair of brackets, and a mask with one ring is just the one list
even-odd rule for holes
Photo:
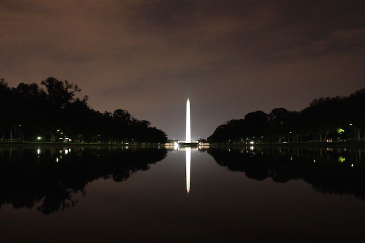
[[365,1],[0,0],[0,77],[76,83],[169,138],[365,88]]

